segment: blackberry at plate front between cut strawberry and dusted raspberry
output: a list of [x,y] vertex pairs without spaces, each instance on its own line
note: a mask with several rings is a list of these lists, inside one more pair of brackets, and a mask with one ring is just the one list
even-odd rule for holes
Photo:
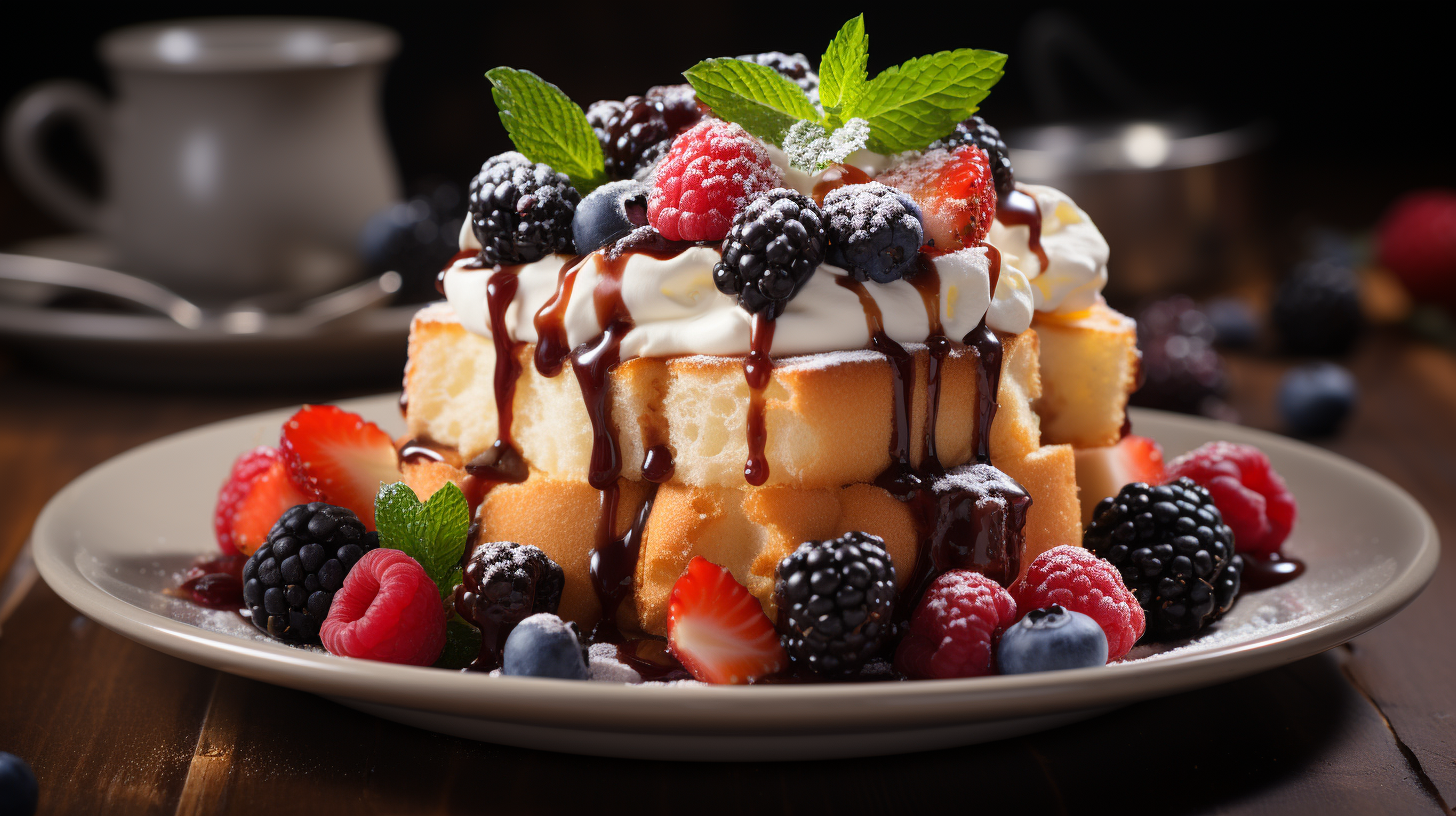
[[890,640],[895,565],[868,533],[807,541],[779,561],[773,595],[789,657],[817,675],[846,675]]

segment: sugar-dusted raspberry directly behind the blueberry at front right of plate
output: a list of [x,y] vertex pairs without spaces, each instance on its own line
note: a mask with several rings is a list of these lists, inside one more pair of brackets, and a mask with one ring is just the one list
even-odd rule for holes
[[1010,587],[1018,609],[1059,605],[1096,621],[1107,634],[1107,659],[1117,660],[1143,637],[1146,618],[1117,568],[1080,546],[1053,546]]

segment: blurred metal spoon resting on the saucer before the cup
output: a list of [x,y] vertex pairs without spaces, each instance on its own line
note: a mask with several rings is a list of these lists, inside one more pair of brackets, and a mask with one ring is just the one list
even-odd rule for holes
[[[188,329],[215,326],[226,334],[256,334],[277,316],[250,302],[208,312],[172,290],[125,272],[35,255],[0,254],[0,280],[106,294],[165,315]],[[328,325],[383,303],[399,291],[400,283],[399,272],[384,272],[377,278],[307,300],[288,318],[297,328]]]

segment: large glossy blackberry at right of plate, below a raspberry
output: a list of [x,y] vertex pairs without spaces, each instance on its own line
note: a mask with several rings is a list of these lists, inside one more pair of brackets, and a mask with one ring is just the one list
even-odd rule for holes
[[1182,476],[1125,485],[1098,503],[1083,545],[1117,567],[1147,613],[1150,640],[1185,638],[1239,593],[1243,560],[1208,491]]

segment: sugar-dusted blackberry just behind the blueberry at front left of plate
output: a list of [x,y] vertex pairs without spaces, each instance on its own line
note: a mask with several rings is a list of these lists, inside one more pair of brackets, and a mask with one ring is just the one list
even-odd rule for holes
[[536,546],[492,541],[476,548],[454,592],[456,612],[480,629],[472,669],[499,667],[511,629],[539,612],[555,613],[565,587],[561,565]]

